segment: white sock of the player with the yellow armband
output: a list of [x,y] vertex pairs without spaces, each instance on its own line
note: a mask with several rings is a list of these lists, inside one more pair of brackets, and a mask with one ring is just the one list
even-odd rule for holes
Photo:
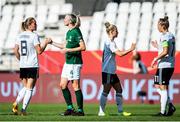
[[168,100],[167,90],[161,90],[161,113],[162,114],[165,113],[167,100]]

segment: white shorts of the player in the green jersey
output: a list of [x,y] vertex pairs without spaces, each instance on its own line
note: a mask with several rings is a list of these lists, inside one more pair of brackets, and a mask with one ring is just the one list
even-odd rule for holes
[[82,64],[64,64],[61,77],[68,80],[80,79]]

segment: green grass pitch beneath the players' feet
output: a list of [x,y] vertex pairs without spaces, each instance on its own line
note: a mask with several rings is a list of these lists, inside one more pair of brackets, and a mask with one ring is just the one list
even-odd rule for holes
[[132,116],[118,116],[115,104],[107,104],[107,116],[99,117],[98,104],[85,104],[85,116],[60,116],[66,109],[65,104],[30,104],[27,116],[13,115],[11,103],[0,103],[0,121],[180,121],[180,105],[176,106],[176,112],[170,117],[154,117],[153,114],[159,112],[159,105],[147,104],[126,104],[124,111],[131,112]]

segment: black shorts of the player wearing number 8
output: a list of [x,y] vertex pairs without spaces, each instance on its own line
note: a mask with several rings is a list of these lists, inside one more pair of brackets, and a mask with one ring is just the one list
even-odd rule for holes
[[39,78],[39,68],[20,68],[20,78]]

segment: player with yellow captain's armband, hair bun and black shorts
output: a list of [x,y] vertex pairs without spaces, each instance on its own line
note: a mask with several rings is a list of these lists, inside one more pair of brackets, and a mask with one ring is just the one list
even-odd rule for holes
[[174,72],[175,62],[175,37],[168,28],[168,17],[160,18],[158,21],[158,30],[162,34],[160,42],[158,44],[157,41],[152,41],[152,45],[158,49],[158,56],[151,63],[153,67],[158,62],[154,84],[161,97],[161,111],[156,114],[157,116],[171,116],[176,110],[168,95],[169,80]]

